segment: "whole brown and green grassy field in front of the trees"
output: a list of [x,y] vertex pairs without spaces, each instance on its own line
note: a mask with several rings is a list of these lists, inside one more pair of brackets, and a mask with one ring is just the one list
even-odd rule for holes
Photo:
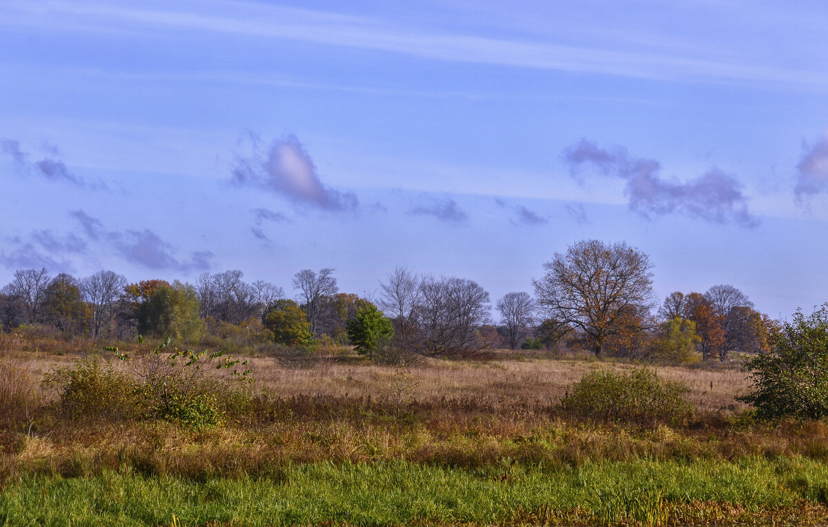
[[[681,424],[584,419],[560,401],[588,355],[370,364],[248,351],[256,382],[219,426],[71,414],[55,367],[106,353],[4,343],[7,525],[705,525],[828,520],[822,422],[758,424],[738,363],[659,366]],[[123,367],[122,364],[116,364]],[[25,373],[25,376],[23,374]],[[238,394],[237,394],[238,395]],[[105,401],[104,401],[105,402]]]

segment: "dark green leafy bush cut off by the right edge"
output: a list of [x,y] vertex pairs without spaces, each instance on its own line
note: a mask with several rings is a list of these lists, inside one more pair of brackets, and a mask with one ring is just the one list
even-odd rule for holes
[[771,335],[771,351],[749,359],[753,393],[740,400],[759,419],[828,417],[828,303],[801,311]]

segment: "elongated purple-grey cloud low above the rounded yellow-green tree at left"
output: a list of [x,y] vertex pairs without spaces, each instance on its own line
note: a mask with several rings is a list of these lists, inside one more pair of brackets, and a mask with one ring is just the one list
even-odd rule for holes
[[70,216],[75,218],[87,237],[103,242],[125,260],[147,269],[190,272],[209,271],[213,268],[212,252],[193,252],[189,258],[182,259],[176,256],[176,248],[171,243],[150,229],[108,231],[98,218],[89,216],[83,210],[73,211]]

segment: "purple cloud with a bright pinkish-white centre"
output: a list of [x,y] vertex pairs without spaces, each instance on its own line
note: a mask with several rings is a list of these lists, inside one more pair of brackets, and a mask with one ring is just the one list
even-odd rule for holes
[[265,189],[294,204],[331,211],[352,211],[359,200],[350,192],[339,192],[322,184],[313,160],[295,136],[272,141],[262,150],[253,141],[249,156],[237,156],[231,181],[240,187]]

